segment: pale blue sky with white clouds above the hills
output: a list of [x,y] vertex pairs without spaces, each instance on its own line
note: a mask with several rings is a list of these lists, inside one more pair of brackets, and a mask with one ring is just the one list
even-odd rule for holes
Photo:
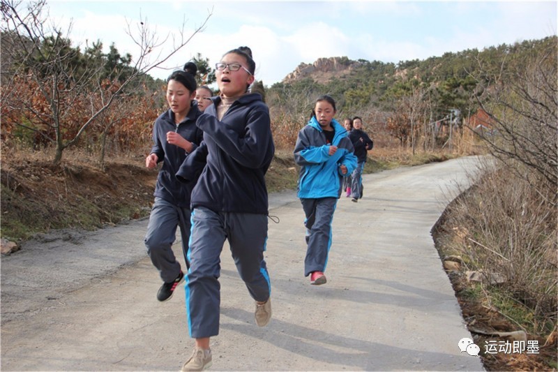
[[213,66],[228,50],[247,45],[257,80],[268,86],[320,57],[397,64],[557,34],[557,1],[47,0],[47,6],[62,29],[73,22],[76,46],[101,40],[133,57],[138,49],[126,34],[128,23],[135,29],[141,17],[162,40],[184,22],[189,37],[209,15],[203,31],[164,65],[168,70],[151,75],[165,79],[197,53]]

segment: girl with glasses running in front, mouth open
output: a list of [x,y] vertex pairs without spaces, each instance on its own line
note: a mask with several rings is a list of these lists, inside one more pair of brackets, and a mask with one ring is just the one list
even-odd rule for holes
[[271,318],[271,283],[264,260],[268,195],[264,176],[275,147],[269,109],[260,94],[248,93],[255,62],[248,47],[227,52],[216,64],[220,96],[211,98],[197,121],[204,141],[176,174],[199,180],[192,192],[192,235],[186,276],[186,313],[192,357],[182,371],[211,366],[209,338],[219,333],[220,253],[225,239],[236,269],[255,300],[255,322]]

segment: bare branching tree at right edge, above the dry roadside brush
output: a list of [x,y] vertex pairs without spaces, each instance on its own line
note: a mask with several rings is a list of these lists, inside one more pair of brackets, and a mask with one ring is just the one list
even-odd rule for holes
[[[557,37],[541,48],[508,59],[482,85],[478,104],[488,113],[478,132],[492,155],[510,164],[519,161],[558,187],[558,73]],[[483,72],[490,70],[481,62]],[[494,68],[492,68],[494,70]],[[515,169],[514,167],[511,167]]]

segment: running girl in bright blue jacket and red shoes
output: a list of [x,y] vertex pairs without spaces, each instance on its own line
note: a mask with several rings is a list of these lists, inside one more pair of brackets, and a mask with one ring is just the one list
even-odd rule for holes
[[335,112],[333,98],[319,97],[294,147],[294,161],[301,165],[298,196],[306,215],[304,276],[310,275],[310,284],[314,285],[326,283],[333,212],[341,195],[342,178],[356,167],[352,142],[345,128],[333,119]]

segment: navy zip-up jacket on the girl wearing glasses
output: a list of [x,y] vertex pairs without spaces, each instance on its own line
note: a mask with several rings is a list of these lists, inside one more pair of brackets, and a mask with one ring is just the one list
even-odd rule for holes
[[265,174],[275,153],[269,108],[262,96],[245,94],[232,103],[221,121],[212,97],[196,125],[202,144],[186,156],[176,177],[188,181],[202,174],[192,191],[191,208],[268,214]]

